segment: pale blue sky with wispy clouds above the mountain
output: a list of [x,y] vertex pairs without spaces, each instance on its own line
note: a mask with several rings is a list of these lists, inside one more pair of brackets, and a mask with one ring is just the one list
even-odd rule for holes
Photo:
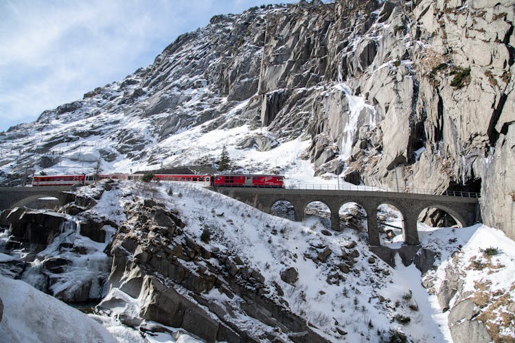
[[0,0],[0,131],[82,99],[215,14],[295,0]]

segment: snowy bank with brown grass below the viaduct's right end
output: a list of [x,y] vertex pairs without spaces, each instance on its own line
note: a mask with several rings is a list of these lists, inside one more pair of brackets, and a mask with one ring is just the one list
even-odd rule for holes
[[[422,246],[439,252],[438,268],[426,275],[435,278],[435,292],[446,278],[446,268],[455,265],[464,281],[463,294],[469,294],[466,298],[473,298],[476,302],[483,293],[488,300],[481,305],[483,317],[480,315],[479,319],[487,325],[499,326],[500,334],[505,336],[502,341],[514,340],[515,332],[508,330],[507,324],[511,322],[512,327],[515,324],[513,309],[508,309],[515,303],[515,242],[503,231],[483,224],[467,228],[431,228],[419,224],[419,236]],[[435,295],[429,296],[428,301],[433,309],[439,309]],[[451,308],[456,301],[457,296],[450,300]],[[489,313],[495,314],[494,320],[486,316]],[[507,322],[501,319],[504,315],[507,315]],[[446,340],[452,342],[447,324],[448,312],[436,313],[434,318]]]

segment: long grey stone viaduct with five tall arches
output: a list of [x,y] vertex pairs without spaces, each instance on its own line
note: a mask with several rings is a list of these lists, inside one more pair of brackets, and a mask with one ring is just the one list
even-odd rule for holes
[[417,218],[426,208],[437,208],[452,215],[461,226],[470,226],[480,220],[477,198],[461,196],[433,196],[416,193],[396,193],[385,191],[331,191],[305,189],[271,188],[227,188],[211,187],[211,190],[245,202],[258,209],[271,213],[273,204],[280,200],[290,202],[295,208],[295,220],[301,222],[304,209],[310,202],[323,202],[331,211],[333,230],[341,230],[339,210],[348,202],[356,202],[367,212],[369,244],[379,246],[379,226],[376,211],[381,204],[395,206],[402,214],[404,222],[404,242],[409,245],[420,244],[417,233]]

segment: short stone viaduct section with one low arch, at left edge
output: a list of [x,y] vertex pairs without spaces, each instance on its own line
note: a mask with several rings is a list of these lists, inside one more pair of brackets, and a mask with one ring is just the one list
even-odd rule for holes
[[[34,202],[38,202],[41,198],[59,198],[60,192],[69,191],[70,189],[71,186],[0,187],[0,211],[34,204]],[[44,201],[39,202],[43,203]],[[57,204],[57,201],[55,203]]]

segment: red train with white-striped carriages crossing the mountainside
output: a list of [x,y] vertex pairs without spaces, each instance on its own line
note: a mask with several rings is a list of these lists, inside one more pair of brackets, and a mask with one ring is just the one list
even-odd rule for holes
[[[98,179],[112,178],[117,180],[141,180],[144,174],[101,174]],[[95,182],[94,175],[55,175],[34,176],[32,186],[71,186],[89,185]],[[155,181],[182,181],[195,182],[200,185],[214,187],[266,187],[284,188],[284,176],[282,175],[248,175],[248,174],[221,174],[221,175],[181,175],[181,174],[156,174]]]

